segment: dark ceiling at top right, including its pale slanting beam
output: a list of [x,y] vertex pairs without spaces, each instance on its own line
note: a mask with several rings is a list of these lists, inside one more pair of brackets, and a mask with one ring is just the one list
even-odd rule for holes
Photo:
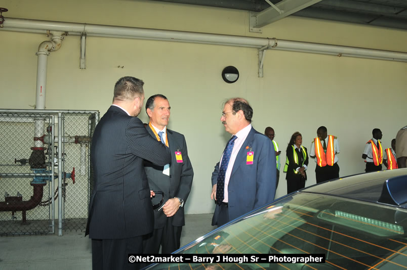
[[[407,30],[406,0],[155,0],[251,11],[251,27],[300,16]],[[261,17],[261,18],[260,18]]]

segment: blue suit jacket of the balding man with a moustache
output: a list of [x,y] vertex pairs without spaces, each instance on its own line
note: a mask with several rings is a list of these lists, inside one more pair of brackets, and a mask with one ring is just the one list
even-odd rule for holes
[[[246,147],[249,149],[246,149]],[[247,153],[252,148],[253,164],[247,165]],[[235,219],[274,200],[276,183],[274,145],[253,127],[237,153],[228,185],[229,219]],[[217,184],[219,162],[212,173],[212,186]],[[212,225],[218,222],[219,205],[215,207]]]

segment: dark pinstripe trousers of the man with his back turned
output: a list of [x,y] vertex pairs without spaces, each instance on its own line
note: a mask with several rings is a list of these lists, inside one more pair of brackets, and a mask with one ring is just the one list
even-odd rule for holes
[[140,254],[143,237],[125,239],[92,239],[92,269],[140,269],[140,264],[129,263],[128,254]]

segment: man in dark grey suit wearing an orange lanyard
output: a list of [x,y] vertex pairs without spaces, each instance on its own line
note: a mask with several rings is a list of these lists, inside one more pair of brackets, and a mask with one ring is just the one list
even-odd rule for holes
[[148,184],[154,191],[164,192],[162,208],[154,210],[154,231],[143,240],[143,252],[172,253],[180,248],[182,227],[185,225],[184,207],[191,191],[193,169],[183,134],[167,128],[170,103],[164,95],[154,95],[146,102],[150,118],[147,131],[151,137],[166,145],[171,152],[171,165],[156,166],[145,162]]

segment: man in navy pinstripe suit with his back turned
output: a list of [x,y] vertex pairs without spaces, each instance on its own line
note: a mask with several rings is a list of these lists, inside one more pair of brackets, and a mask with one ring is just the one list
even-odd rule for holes
[[153,230],[144,159],[163,166],[169,149],[152,138],[136,116],[144,102],[144,82],[120,78],[113,105],[100,119],[92,138],[94,189],[86,235],[92,239],[93,269],[135,269],[127,254],[142,253],[142,236]]

